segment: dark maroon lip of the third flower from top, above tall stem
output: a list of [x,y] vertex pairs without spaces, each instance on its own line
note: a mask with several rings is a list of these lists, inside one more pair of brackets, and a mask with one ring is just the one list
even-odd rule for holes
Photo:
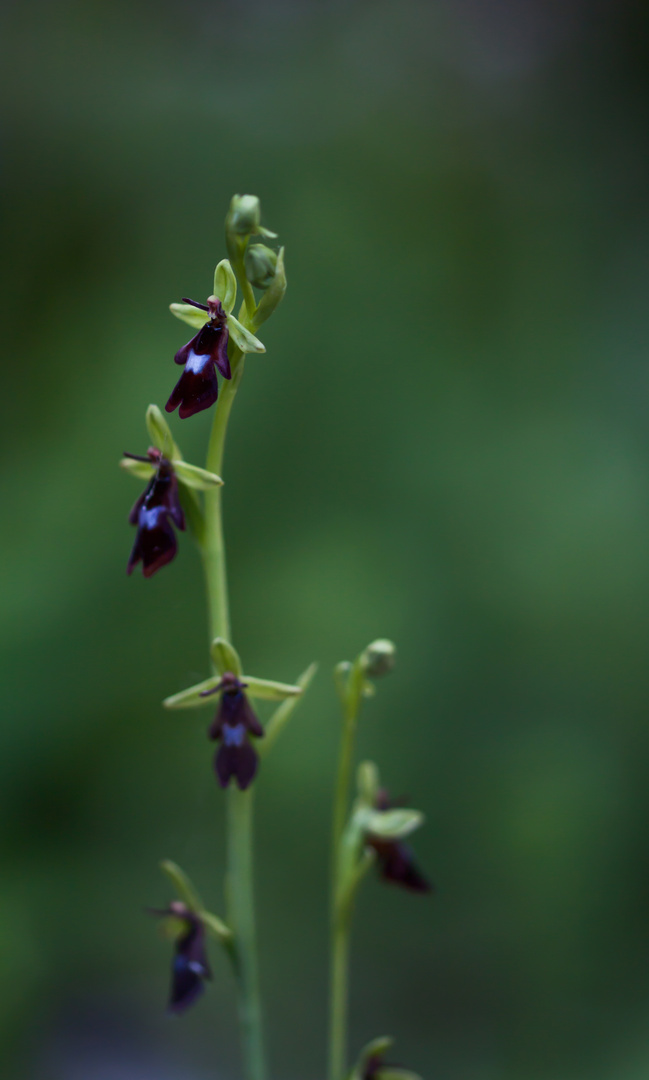
[[234,777],[241,791],[252,783],[257,772],[257,754],[248,735],[260,739],[263,734],[263,728],[243,692],[245,686],[232,672],[225,672],[218,686],[202,694],[203,698],[211,693],[221,694],[216,716],[207,732],[209,739],[220,739],[214,768],[221,787],[227,787]]

